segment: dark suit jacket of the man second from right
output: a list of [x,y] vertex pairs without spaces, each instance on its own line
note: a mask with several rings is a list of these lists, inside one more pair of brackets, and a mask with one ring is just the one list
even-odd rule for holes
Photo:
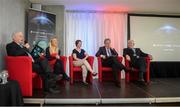
[[[115,49],[110,49],[113,56],[118,56],[118,53]],[[100,47],[98,52],[96,53],[96,57],[99,57],[100,55],[105,55],[107,57],[107,52],[105,46]]]

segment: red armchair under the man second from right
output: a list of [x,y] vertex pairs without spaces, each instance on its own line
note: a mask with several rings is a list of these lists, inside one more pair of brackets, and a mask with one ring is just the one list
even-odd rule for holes
[[[122,57],[118,56],[118,61],[122,62]],[[119,79],[121,79],[121,72],[118,73]],[[99,82],[102,82],[104,80],[114,80],[113,74],[112,74],[112,68],[110,67],[103,67],[102,66],[102,59],[101,57],[98,57],[98,80]]]

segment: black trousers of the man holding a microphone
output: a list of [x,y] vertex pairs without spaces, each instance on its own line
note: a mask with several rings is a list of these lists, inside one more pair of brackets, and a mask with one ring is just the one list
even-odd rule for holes
[[32,64],[32,69],[41,76],[44,91],[48,91],[49,88],[55,85],[54,81],[50,81],[51,75],[53,74],[47,59],[36,59]]

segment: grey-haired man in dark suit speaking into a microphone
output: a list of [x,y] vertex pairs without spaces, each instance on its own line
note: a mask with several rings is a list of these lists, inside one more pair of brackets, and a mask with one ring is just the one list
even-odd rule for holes
[[[32,58],[28,43],[24,43],[24,35],[22,32],[15,32],[12,35],[13,41],[6,46],[8,56],[29,56]],[[32,58],[32,69],[39,74],[43,80],[43,91],[50,93],[58,93],[55,88],[55,82],[60,76],[52,74],[47,59]]]

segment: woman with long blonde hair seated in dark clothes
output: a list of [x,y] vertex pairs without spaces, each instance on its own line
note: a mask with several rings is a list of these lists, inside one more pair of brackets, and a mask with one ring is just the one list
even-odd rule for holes
[[69,81],[70,78],[64,71],[64,65],[62,60],[60,59],[61,51],[58,48],[58,40],[56,37],[51,38],[49,47],[46,48],[46,58],[49,61],[56,60],[54,65],[54,73],[55,74],[62,74],[63,79]]

